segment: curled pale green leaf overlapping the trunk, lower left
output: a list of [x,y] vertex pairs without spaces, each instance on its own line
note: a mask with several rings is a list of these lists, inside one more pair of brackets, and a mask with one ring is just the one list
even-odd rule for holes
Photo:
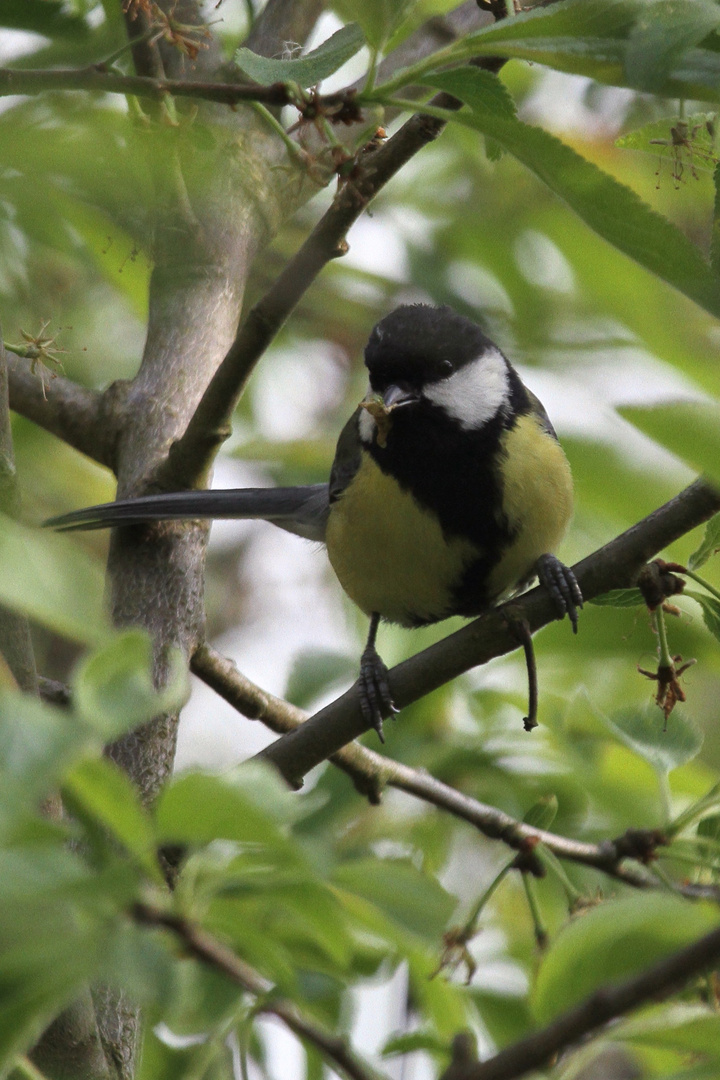
[[78,667],[72,703],[89,725],[108,739],[116,738],[186,702],[188,675],[179,651],[171,654],[167,669],[167,683],[158,691],[150,638],[145,631],[128,630]]

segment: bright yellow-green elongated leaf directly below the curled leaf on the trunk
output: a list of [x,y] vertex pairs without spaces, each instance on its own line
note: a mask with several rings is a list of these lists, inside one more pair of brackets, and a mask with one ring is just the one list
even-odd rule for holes
[[66,778],[63,795],[69,797],[73,809],[81,808],[107,829],[152,879],[162,883],[152,822],[121,769],[105,758],[85,760]]

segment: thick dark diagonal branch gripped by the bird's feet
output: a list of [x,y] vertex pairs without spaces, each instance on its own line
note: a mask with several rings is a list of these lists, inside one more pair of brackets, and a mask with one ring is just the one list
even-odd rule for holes
[[[720,491],[696,481],[658,510],[578,563],[573,570],[585,599],[634,584],[641,567],[667,544],[720,511]],[[513,619],[494,608],[390,672],[393,701],[399,708],[424,697],[458,675],[517,648],[512,622],[526,619],[535,633],[557,618],[542,588],[512,602]],[[312,768],[367,731],[357,684],[284,735],[259,756],[271,761],[289,784],[297,785]]]

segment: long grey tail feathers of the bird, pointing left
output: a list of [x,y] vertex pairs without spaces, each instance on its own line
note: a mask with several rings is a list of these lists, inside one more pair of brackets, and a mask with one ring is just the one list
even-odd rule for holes
[[239,487],[217,491],[171,491],[73,510],[44,524],[62,532],[107,529],[178,518],[262,518],[309,540],[324,540],[327,484],[304,487]]

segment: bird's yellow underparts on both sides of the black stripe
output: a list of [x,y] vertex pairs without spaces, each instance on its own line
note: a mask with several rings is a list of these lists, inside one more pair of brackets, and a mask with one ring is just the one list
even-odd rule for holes
[[[520,417],[503,435],[495,467],[501,462],[502,510],[514,540],[490,571],[490,600],[531,576],[536,559],[556,550],[572,516],[567,458],[533,416]],[[365,450],[353,482],[330,507],[326,542],[340,584],[361,610],[403,625],[456,613],[456,590],[483,554],[471,540],[448,539],[437,518]]]

